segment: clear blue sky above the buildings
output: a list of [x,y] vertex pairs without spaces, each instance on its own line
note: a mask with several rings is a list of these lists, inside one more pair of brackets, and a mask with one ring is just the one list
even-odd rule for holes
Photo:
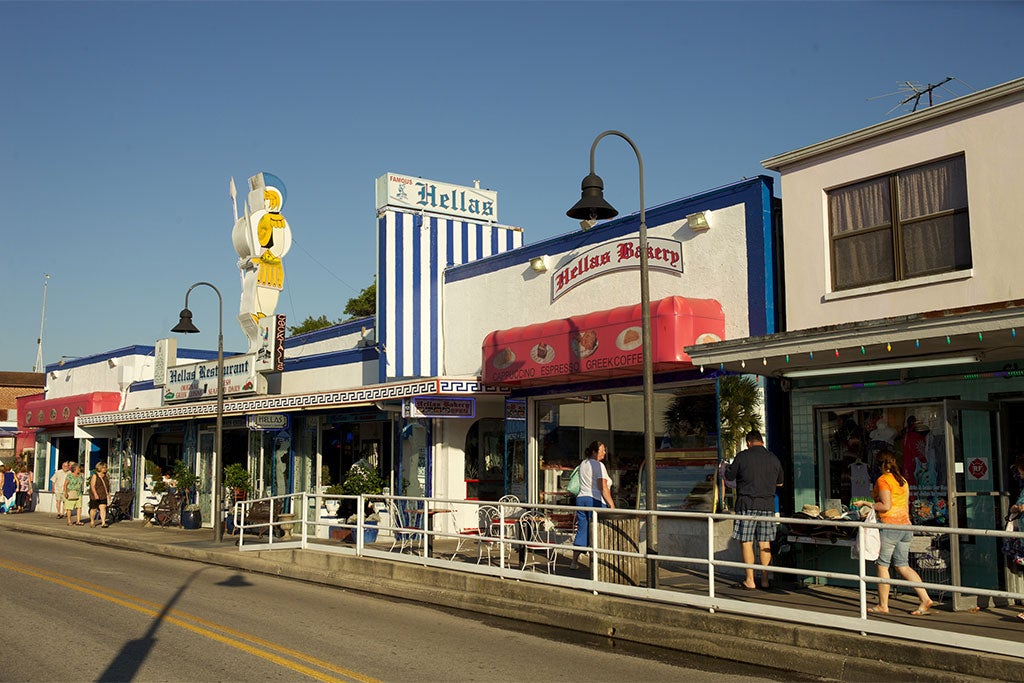
[[[44,364],[170,336],[198,281],[245,350],[231,176],[288,186],[278,312],[336,319],[373,282],[387,171],[480,180],[530,244],[578,229],[603,130],[656,206],[909,112],[905,81],[1019,78],[1022,27],[1020,2],[6,2],[0,370],[33,367],[44,273]],[[629,145],[597,172],[636,211]],[[215,295],[189,303],[179,344],[216,348]]]

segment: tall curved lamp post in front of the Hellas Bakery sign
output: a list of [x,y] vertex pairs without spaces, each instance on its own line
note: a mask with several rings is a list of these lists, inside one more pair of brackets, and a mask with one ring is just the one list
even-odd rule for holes
[[[625,133],[606,130],[594,138],[590,147],[590,174],[581,183],[580,201],[565,212],[569,218],[583,221],[614,218],[618,211],[604,201],[604,181],[594,173],[594,153],[597,143],[606,135],[615,135],[629,142],[637,156],[640,167],[640,340],[643,346],[643,432],[644,432],[644,474],[647,479],[647,552],[657,552],[657,486],[654,463],[654,361],[650,343],[650,286],[647,270],[647,218],[643,203],[643,159],[637,145]],[[647,586],[657,588],[657,562],[647,561]]]

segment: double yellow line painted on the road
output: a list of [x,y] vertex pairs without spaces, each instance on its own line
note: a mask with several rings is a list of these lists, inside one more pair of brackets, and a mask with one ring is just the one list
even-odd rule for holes
[[[318,681],[341,682],[344,680],[354,680],[354,681],[359,681],[360,683],[379,683],[375,678],[364,676],[354,671],[338,667],[329,661],[324,661],[323,659],[317,659],[316,657],[310,656],[303,652],[299,652],[298,650],[293,650],[291,648],[278,645],[276,643],[272,643],[257,636],[253,636],[225,626],[221,626],[214,622],[210,622],[209,620],[205,620],[201,616],[196,616],[195,614],[188,614],[187,612],[182,612],[177,609],[171,609],[168,611],[167,614],[163,614],[163,606],[160,603],[154,602],[152,600],[146,600],[144,598],[139,598],[137,596],[129,595],[127,593],[123,593],[116,589],[110,589],[104,586],[91,584],[89,582],[82,581],[79,579],[65,577],[62,574],[50,571],[48,569],[44,569],[42,567],[35,567],[29,564],[15,562],[12,560],[0,559],[0,567],[5,567],[7,569],[10,569],[11,571],[17,571],[18,573],[24,573],[26,575],[33,577],[35,579],[41,579],[43,581],[47,581],[52,584],[62,586],[65,588],[71,588],[81,593],[85,593],[86,595],[90,595],[92,597],[96,597],[101,600],[106,600],[108,602],[113,602],[114,604],[120,605],[122,607],[127,607],[128,609],[133,609],[135,611],[147,614],[150,616],[159,616],[163,622],[174,624],[175,626],[180,626],[181,628],[187,629],[193,633],[199,634],[201,636],[204,636],[211,640],[215,640],[225,645],[229,645],[230,647],[234,647],[237,649],[240,649],[244,652],[248,652],[249,654],[253,654],[263,659],[267,659],[281,667],[285,667],[286,669],[291,669],[292,671],[299,672]],[[117,596],[123,596],[123,597],[117,597]],[[146,607],[143,605],[152,605],[153,607]],[[191,622],[195,622],[196,624],[202,624],[210,628],[203,628],[201,626],[196,626],[194,624],[189,624],[185,620],[189,620]],[[218,631],[222,631],[223,633],[233,636],[234,639],[228,638],[227,636],[216,633],[210,629],[216,629]],[[286,659],[283,656],[279,656],[278,654],[274,654],[272,652],[268,652],[265,649],[253,647],[248,643],[241,642],[242,640],[247,640],[250,643],[259,645],[261,648],[274,650],[282,654],[286,654],[290,657],[306,661],[308,664],[313,665],[314,667],[334,672],[345,678],[339,679],[339,678],[334,678],[332,676],[328,676],[314,669],[310,669],[309,667],[304,667],[300,664],[290,661],[289,659]]]

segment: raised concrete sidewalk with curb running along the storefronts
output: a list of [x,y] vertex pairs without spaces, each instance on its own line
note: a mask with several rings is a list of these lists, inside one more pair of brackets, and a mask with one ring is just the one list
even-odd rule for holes
[[[731,580],[716,585],[719,598],[820,614],[812,624],[791,624],[315,550],[243,553],[238,550],[237,537],[225,536],[216,544],[210,528],[156,527],[142,521],[92,528],[68,526],[52,513],[0,515],[0,543],[11,541],[10,531],[102,544],[601,635],[614,633],[616,638],[635,642],[739,658],[836,680],[964,681],[980,675],[978,680],[1024,681],[1024,660],[1019,658],[958,650],[942,645],[941,638],[936,639],[936,644],[909,643],[816,626],[830,617],[859,615],[859,596],[852,589],[812,586],[749,592],[731,588]],[[390,541],[382,549],[388,546]],[[475,553],[470,561],[475,562]],[[558,569],[563,575],[585,573],[572,572],[564,563]],[[707,579],[696,572],[663,571],[662,577],[663,588],[707,595]],[[873,599],[869,600],[873,603]],[[946,596],[947,604],[934,608],[927,616],[914,617],[907,612],[915,606],[915,599],[904,594],[891,602],[889,615],[871,618],[1024,642],[1024,622],[1016,616],[1020,607],[953,612],[948,602]]]

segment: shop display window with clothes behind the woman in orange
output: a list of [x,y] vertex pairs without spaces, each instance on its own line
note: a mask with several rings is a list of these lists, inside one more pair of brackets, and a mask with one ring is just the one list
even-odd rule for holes
[[910,485],[910,521],[945,525],[946,453],[942,403],[817,411],[825,507],[871,500],[878,456],[892,451]]

